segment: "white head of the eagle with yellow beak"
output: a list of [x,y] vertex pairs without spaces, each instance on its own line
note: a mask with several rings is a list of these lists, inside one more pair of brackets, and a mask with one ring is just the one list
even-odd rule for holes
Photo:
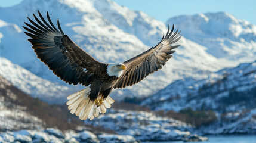
[[126,67],[122,63],[109,64],[107,65],[107,74],[109,76],[120,77],[125,69]]

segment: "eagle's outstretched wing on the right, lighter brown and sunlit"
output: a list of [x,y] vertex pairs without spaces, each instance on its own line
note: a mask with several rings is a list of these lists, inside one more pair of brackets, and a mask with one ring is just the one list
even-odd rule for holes
[[130,60],[125,61],[123,64],[127,67],[125,72],[119,77],[118,82],[114,88],[124,88],[125,86],[134,85],[144,79],[149,74],[158,71],[165,65],[166,61],[172,57],[172,53],[175,51],[172,49],[177,48],[180,45],[171,46],[172,43],[177,42],[180,38],[180,32],[178,30],[172,34],[174,26],[172,26],[171,32],[168,31],[166,36],[163,36],[161,42],[155,47],[137,55]]

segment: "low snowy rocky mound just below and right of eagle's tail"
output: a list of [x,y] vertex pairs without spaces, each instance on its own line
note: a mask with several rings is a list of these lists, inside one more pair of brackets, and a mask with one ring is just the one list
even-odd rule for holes
[[156,116],[146,111],[109,110],[95,120],[85,120],[85,124],[106,128],[119,133],[130,135],[140,141],[172,141],[194,136],[193,126],[170,119]]

